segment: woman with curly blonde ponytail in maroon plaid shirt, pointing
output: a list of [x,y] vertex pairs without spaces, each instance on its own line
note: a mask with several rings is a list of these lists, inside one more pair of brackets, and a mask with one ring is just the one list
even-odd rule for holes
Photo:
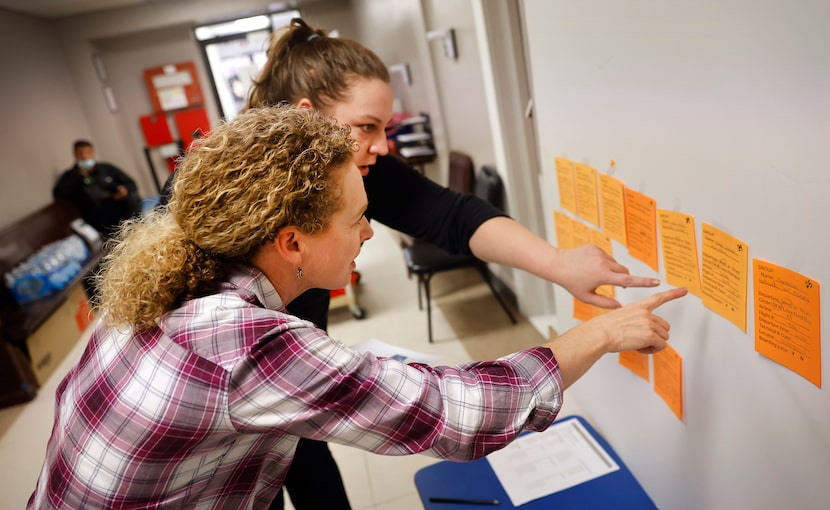
[[169,207],[107,256],[103,320],[56,392],[29,508],[266,508],[301,437],[479,458],[548,427],[602,354],[666,346],[652,311],[682,289],[457,367],[358,353],[289,314],[344,286],[372,236],[353,149],[348,128],[283,106],[191,150]]

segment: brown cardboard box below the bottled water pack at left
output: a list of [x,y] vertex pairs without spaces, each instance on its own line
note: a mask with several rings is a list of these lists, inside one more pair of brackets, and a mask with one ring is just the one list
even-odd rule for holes
[[40,386],[55,372],[92,322],[89,301],[80,284],[67,294],[66,301],[26,339],[32,371]]

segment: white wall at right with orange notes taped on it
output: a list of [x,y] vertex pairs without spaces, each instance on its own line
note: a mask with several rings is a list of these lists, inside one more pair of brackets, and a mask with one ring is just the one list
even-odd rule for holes
[[[707,222],[746,242],[751,259],[824,283],[826,319],[830,4],[522,5],[549,239],[559,209],[553,158],[599,171],[613,159],[630,188],[695,217],[698,250]],[[634,273],[664,278],[616,242],[614,255]],[[568,391],[659,508],[827,507],[827,383],[820,389],[754,351],[751,268],[748,290],[746,333],[695,296],[662,310],[683,358],[683,421],[615,356]],[[556,298],[561,330],[574,320],[567,294]],[[822,361],[826,373],[826,342]]]

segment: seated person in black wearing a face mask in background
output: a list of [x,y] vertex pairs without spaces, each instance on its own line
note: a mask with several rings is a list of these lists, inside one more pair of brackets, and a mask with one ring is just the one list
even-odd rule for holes
[[71,202],[84,221],[110,238],[121,222],[141,213],[135,181],[118,167],[96,161],[95,148],[87,140],[76,141],[73,152],[75,164],[60,176],[52,196]]

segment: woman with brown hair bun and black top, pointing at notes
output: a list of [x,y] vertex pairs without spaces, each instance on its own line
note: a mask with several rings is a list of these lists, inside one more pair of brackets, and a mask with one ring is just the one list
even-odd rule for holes
[[[654,287],[654,278],[632,276],[594,245],[559,250],[472,195],[436,184],[389,154],[385,127],[392,119],[389,71],[357,41],[293,19],[271,41],[268,60],[248,95],[248,106],[288,102],[316,108],[351,127],[355,162],[363,175],[366,217],[426,239],[451,253],[522,269],[566,288],[585,303],[617,308],[596,293],[602,285]],[[288,309],[326,329],[328,291],[312,289]],[[327,491],[317,489],[318,485]],[[324,444],[302,440],[286,488],[297,510],[349,510],[337,465]],[[283,508],[282,493],[271,510]]]

